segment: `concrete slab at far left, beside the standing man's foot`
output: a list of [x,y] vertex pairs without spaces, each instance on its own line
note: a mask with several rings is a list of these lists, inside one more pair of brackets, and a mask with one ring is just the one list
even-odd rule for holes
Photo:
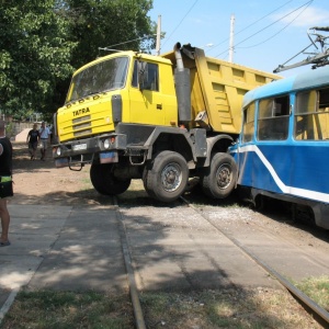
[[2,288],[16,290],[30,282],[70,211],[71,207],[9,205],[11,246],[0,249]]

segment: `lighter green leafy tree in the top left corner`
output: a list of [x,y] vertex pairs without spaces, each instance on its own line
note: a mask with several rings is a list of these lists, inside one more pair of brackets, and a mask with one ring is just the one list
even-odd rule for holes
[[[0,2],[0,110],[15,118],[52,112],[54,90],[72,72],[75,43],[55,0]],[[50,106],[52,107],[52,106]]]

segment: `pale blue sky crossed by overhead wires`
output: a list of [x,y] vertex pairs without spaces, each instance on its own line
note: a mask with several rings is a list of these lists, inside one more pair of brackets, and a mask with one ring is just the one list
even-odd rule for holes
[[[229,60],[232,35],[232,63],[272,72],[279,65],[292,65],[321,50],[316,43],[318,50],[310,46],[307,54],[296,56],[311,45],[310,27],[329,26],[329,1],[154,0],[149,16],[158,23],[159,15],[166,33],[160,53],[180,42],[203,48],[206,56]],[[329,44],[329,32],[311,32],[328,36]],[[307,65],[279,75],[290,77],[310,69]]]

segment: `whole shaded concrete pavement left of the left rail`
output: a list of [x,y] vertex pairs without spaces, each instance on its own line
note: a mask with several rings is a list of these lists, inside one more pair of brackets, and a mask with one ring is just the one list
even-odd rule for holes
[[22,286],[127,291],[117,219],[109,207],[13,205],[0,248],[1,313]]

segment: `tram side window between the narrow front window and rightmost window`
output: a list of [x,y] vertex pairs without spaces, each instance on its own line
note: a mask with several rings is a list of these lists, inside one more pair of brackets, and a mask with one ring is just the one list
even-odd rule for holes
[[290,98],[264,99],[259,102],[258,140],[284,140],[288,136]]

